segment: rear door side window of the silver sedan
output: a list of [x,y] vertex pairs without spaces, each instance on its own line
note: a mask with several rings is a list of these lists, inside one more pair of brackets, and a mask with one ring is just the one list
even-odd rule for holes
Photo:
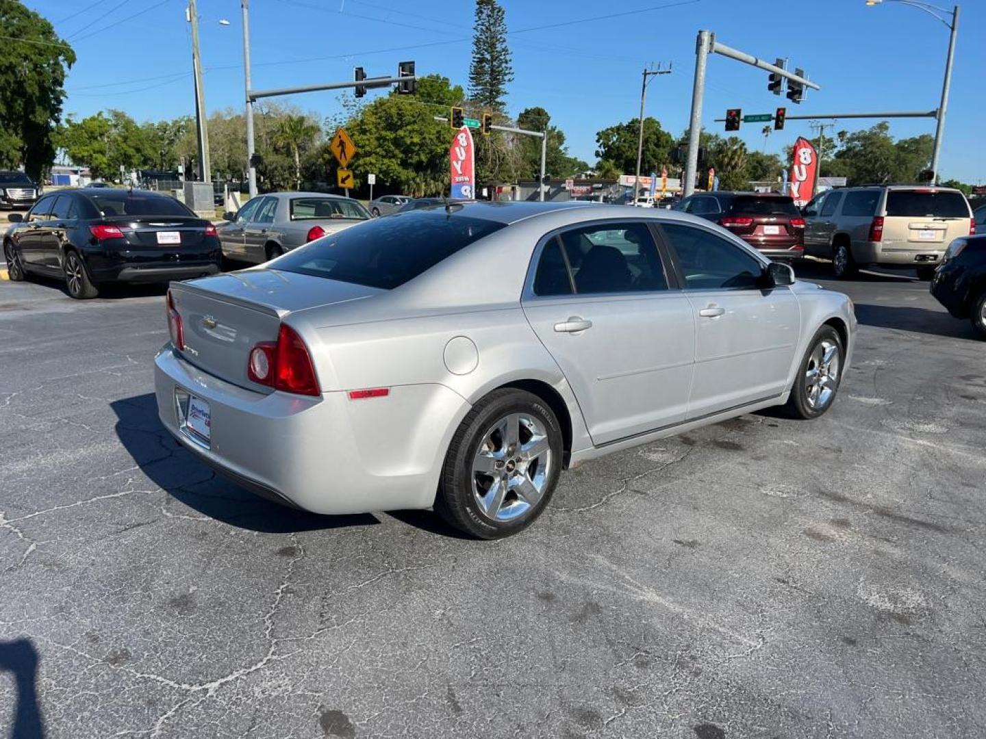
[[657,245],[643,223],[599,224],[563,232],[545,244],[534,274],[537,296],[667,289]]

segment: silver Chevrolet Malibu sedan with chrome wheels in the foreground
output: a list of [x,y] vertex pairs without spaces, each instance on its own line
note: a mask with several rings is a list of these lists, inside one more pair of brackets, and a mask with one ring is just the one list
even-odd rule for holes
[[203,461],[318,513],[516,533],[564,468],[835,398],[856,319],[683,213],[456,203],[172,285],[158,409]]

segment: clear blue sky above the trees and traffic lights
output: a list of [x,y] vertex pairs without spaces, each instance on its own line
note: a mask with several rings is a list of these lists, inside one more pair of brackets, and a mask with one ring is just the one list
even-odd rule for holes
[[[67,112],[84,116],[117,107],[138,120],[193,112],[191,45],[182,0],[26,4],[52,21],[75,47],[78,62],[66,84]],[[793,105],[767,92],[766,72],[713,56],[703,125],[717,132],[723,124],[713,118],[723,117],[728,107],[772,112],[786,104],[789,115],[935,108],[948,49],[944,25],[892,1],[873,8],[864,0],[502,0],[502,5],[514,54],[510,112],[516,115],[531,105],[546,108],[552,123],[565,131],[570,153],[590,163],[596,161],[596,132],[637,115],[646,64],[673,64],[673,74],[651,83],[647,112],[674,135],[681,132],[691,102],[699,29],[714,31],[723,43],[763,58],[787,56],[792,68],[804,68],[822,87]],[[199,0],[198,7],[206,106],[240,106],[240,2]],[[253,86],[346,80],[357,65],[370,76],[392,74],[404,59],[414,59],[419,74],[437,72],[465,86],[472,13],[471,0],[251,0]],[[231,25],[221,26],[220,19]],[[583,19],[596,20],[572,23]],[[973,183],[986,182],[986,146],[976,130],[986,111],[984,31],[986,2],[965,0],[942,175]],[[337,93],[293,101],[320,116],[340,109]],[[847,119],[838,121],[836,130],[876,122]],[[764,146],[762,125],[743,125],[740,136],[747,146]],[[935,130],[932,118],[896,119],[890,126],[896,137]],[[780,152],[802,134],[810,135],[808,121],[789,121],[784,131],[769,137],[766,149]]]

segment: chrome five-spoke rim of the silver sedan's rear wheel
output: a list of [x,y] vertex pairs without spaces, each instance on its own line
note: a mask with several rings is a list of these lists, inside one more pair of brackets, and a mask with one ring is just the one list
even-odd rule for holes
[[472,458],[472,497],[487,517],[514,520],[541,500],[552,464],[543,424],[512,413],[483,435]]

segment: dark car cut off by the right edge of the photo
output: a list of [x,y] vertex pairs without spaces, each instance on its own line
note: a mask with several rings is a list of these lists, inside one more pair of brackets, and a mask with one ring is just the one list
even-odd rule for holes
[[935,270],[931,294],[986,339],[986,235],[956,238]]

